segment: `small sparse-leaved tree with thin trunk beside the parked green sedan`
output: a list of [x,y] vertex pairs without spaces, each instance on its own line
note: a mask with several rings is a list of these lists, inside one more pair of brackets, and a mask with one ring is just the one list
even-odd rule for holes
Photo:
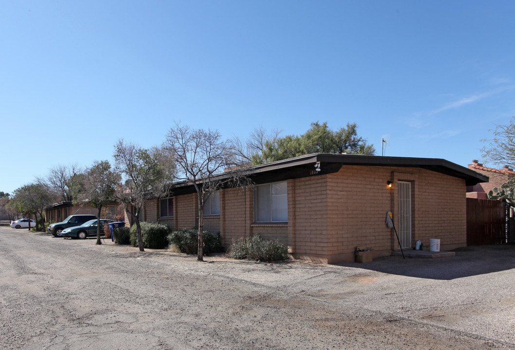
[[100,241],[100,213],[102,207],[114,200],[116,187],[122,177],[111,169],[111,164],[107,160],[94,162],[85,175],[83,189],[77,195],[77,201],[87,202],[97,209],[96,244],[102,244]]

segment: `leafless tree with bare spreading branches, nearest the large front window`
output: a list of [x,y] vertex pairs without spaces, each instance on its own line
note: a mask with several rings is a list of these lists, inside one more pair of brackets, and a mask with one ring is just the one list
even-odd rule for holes
[[[244,178],[241,168],[219,176],[225,168],[238,165],[233,144],[222,140],[218,131],[193,129],[175,123],[166,134],[163,148],[175,158],[176,179],[191,183],[198,196],[198,255],[203,261],[203,220],[204,204],[209,196],[221,188],[224,182]],[[238,174],[238,176],[235,176]]]

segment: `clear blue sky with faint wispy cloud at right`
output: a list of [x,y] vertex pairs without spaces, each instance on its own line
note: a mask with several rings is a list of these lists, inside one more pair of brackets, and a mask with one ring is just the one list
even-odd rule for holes
[[[356,122],[381,155],[480,159],[515,115],[512,1],[16,1],[0,10],[0,191],[160,144]],[[29,135],[27,135],[29,133]]]

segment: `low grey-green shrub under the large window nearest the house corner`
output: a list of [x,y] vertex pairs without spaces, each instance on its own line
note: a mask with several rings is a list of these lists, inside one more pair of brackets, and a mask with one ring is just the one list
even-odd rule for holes
[[229,248],[232,259],[248,259],[255,261],[288,260],[288,247],[281,242],[263,240],[260,235],[242,237],[233,241]]

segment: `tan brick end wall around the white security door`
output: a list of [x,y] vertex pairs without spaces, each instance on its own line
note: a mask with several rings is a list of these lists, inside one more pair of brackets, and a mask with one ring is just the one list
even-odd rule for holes
[[[440,238],[441,250],[466,245],[465,181],[432,171],[413,168],[344,166],[329,175],[328,260],[352,261],[356,246],[373,249],[375,257],[397,249],[393,230],[385,224],[393,213],[398,227],[397,181],[411,182],[411,245]],[[393,188],[386,182],[393,181]]]

